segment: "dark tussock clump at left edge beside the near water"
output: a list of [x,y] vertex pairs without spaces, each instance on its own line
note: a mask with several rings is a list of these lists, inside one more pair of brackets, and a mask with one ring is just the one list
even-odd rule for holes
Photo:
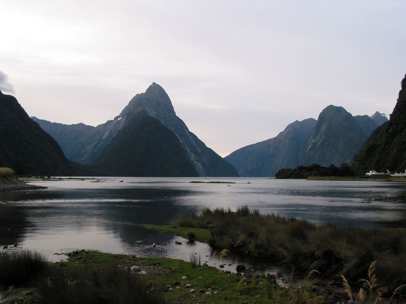
[[44,254],[32,250],[0,253],[0,285],[22,285],[48,271]]

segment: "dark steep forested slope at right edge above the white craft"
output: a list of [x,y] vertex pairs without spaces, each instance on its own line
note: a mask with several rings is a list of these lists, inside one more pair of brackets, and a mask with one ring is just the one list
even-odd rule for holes
[[388,122],[377,128],[354,157],[351,167],[358,174],[369,170],[402,171],[406,168],[406,75]]

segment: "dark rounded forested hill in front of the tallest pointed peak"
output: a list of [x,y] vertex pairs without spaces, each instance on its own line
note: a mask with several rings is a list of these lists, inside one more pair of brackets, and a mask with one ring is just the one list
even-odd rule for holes
[[178,137],[145,111],[127,117],[94,166],[113,176],[197,175]]

